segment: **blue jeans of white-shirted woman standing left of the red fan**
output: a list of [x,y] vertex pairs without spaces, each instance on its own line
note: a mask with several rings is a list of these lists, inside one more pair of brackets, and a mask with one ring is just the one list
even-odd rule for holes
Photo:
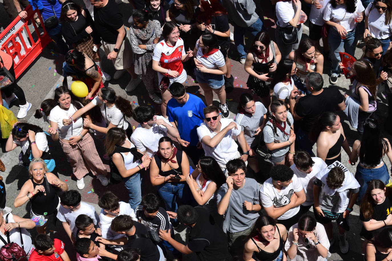
[[354,56],[354,51],[357,46],[355,40],[355,29],[348,32],[346,39],[342,39],[338,31],[336,31],[332,26],[329,28],[328,32],[328,45],[331,53],[331,75],[339,76],[340,74],[340,56],[339,52],[347,52],[348,54]]

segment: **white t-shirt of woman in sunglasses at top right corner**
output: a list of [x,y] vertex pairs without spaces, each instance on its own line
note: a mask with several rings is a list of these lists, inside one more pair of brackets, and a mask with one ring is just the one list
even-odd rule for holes
[[[376,8],[372,8],[370,3],[365,10],[365,15],[368,18],[368,27],[370,34],[379,40],[387,39],[392,35],[392,23],[385,25],[385,13],[380,14]],[[372,9],[372,10],[370,10]]]

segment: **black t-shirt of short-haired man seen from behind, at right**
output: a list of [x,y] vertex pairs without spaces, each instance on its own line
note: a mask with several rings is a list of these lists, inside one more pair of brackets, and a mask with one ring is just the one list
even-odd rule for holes
[[318,95],[301,97],[295,107],[295,112],[301,119],[301,129],[305,133],[312,130],[316,117],[323,112],[336,112],[336,107],[343,102],[343,95],[335,87],[323,88]]

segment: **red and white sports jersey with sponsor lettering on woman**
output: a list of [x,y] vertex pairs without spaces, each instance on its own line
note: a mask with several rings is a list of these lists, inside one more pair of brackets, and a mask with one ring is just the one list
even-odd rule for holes
[[[174,46],[167,45],[165,40],[160,41],[154,48],[152,59],[159,61],[162,68],[177,71],[181,74],[183,70],[181,58],[183,55],[185,55],[184,41],[179,37]],[[162,75],[171,77],[168,74]]]

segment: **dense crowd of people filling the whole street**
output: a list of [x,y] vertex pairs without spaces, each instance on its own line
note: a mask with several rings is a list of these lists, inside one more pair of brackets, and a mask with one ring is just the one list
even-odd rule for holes
[[[72,0],[29,2],[64,54],[64,85],[34,114],[47,130],[18,121],[6,141],[6,151],[21,147],[19,164],[29,171],[14,207],[29,202],[31,218],[11,214],[0,181],[0,259],[326,261],[336,239],[332,221],[341,254],[350,251],[348,217],[358,204],[364,241],[356,251],[367,261],[392,260],[384,162],[392,162],[392,148],[375,114],[378,92],[392,99],[392,0],[273,1],[275,35],[263,25],[259,0],[133,0],[129,28],[121,0],[83,0],[87,8]],[[4,4],[10,16],[27,17],[23,1]],[[308,16],[309,38],[302,37]],[[254,36],[248,50],[246,32]],[[231,36],[251,90],[235,100],[234,119],[226,96],[234,90]],[[357,43],[365,44],[363,54],[348,67],[341,52],[354,56]],[[0,75],[15,77],[12,57],[0,58]],[[127,92],[143,82],[161,111],[105,87],[112,76],[102,59],[113,62],[114,79],[131,75]],[[333,86],[343,69],[352,76],[345,95]],[[204,100],[187,92],[188,75]],[[88,94],[74,95],[67,76],[84,82]],[[17,118],[27,115],[31,103],[16,82],[2,94],[1,105],[19,99]],[[352,147],[341,117],[357,130]],[[59,151],[48,140],[60,144],[79,190],[88,173],[111,184],[99,196],[99,213],[59,178]],[[355,173],[342,162],[342,148]],[[125,187],[127,202],[112,184]],[[46,234],[48,222],[61,222],[76,256],[64,238]],[[184,225],[186,240],[174,233]]]

